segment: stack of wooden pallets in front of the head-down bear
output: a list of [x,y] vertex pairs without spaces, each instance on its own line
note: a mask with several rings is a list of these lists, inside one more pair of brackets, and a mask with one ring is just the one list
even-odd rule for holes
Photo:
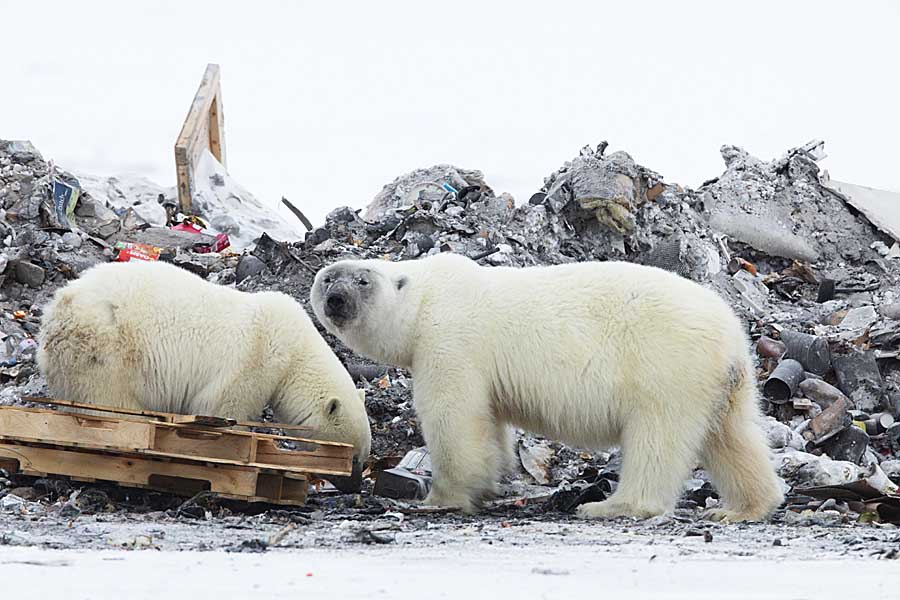
[[0,407],[0,467],[12,472],[284,505],[305,502],[313,474],[352,472],[349,444],[230,429],[236,422],[218,417],[27,400],[65,410]]

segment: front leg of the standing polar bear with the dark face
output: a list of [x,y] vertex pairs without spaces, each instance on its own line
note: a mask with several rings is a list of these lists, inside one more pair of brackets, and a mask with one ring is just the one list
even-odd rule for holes
[[425,504],[475,512],[495,490],[504,454],[498,432],[503,430],[487,386],[471,380],[471,373],[458,378],[442,373],[434,384],[429,379],[414,374],[413,384],[434,474]]

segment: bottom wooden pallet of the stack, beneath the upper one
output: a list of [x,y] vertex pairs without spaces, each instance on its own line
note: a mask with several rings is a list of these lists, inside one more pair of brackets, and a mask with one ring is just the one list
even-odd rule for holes
[[0,442],[0,467],[25,475],[64,475],[188,496],[208,490],[234,500],[289,506],[302,505],[307,493],[307,479],[299,473],[6,441]]

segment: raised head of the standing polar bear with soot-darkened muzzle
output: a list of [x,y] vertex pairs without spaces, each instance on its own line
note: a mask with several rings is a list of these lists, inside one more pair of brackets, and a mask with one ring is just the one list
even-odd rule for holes
[[409,367],[419,308],[416,262],[343,260],[320,270],[310,291],[316,318],[356,352]]

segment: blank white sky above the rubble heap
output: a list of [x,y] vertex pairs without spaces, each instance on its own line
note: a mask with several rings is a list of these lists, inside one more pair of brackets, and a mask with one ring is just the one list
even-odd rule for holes
[[173,185],[222,67],[228,167],[314,222],[449,162],[527,201],[606,139],[667,181],[812,138],[835,179],[900,190],[897,2],[0,0],[0,138]]

